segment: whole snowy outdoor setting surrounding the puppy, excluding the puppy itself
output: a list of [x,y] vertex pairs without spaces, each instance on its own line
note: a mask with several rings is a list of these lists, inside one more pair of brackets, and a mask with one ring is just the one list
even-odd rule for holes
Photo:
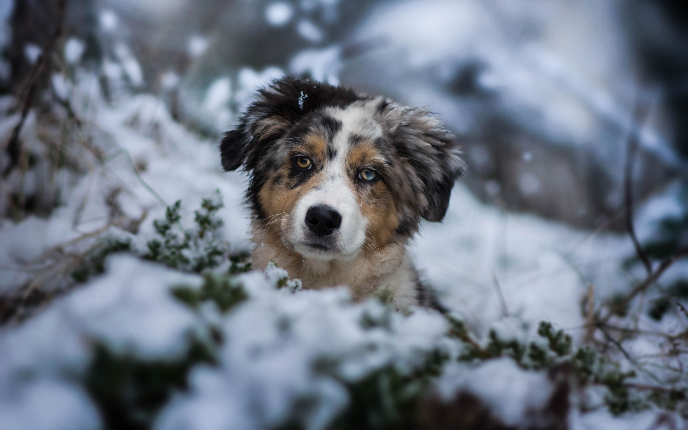
[[[681,2],[0,0],[0,54],[0,429],[687,428]],[[288,74],[460,138],[447,314],[251,270],[217,146]]]

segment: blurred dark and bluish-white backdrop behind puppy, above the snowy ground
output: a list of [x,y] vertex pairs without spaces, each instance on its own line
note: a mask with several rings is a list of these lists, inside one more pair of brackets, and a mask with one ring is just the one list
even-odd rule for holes
[[[58,1],[4,0],[0,92],[56,31]],[[292,74],[427,106],[464,142],[480,200],[623,229],[627,141],[638,200],[685,177],[688,14],[659,0],[79,0],[72,54],[158,94],[204,136]],[[642,118],[634,111],[643,107]]]

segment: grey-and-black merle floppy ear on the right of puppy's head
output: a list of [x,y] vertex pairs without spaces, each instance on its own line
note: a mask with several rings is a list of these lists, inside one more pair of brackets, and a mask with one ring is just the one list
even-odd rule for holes
[[454,182],[466,169],[457,139],[428,111],[391,107],[389,114],[396,116],[393,139],[397,150],[422,189],[420,216],[440,222],[447,213]]

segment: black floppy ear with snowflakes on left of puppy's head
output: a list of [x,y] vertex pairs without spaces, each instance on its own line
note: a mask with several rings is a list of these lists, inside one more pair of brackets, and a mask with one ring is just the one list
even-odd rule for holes
[[301,118],[325,106],[348,105],[359,97],[350,89],[295,78],[275,80],[241,117],[237,129],[225,133],[220,144],[226,171],[255,169],[265,149],[285,135]]

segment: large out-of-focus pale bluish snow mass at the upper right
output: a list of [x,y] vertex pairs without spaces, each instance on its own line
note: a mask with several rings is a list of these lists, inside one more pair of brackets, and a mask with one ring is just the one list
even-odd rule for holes
[[[432,105],[454,129],[470,133],[480,130],[485,112],[475,109],[475,100],[447,94],[446,88],[462,67],[480,65],[479,90],[499,95],[486,103],[491,112],[547,142],[591,151],[620,176],[618,160],[623,136],[634,122],[638,84],[619,1],[515,4],[380,3],[351,38],[379,46],[353,58],[342,78],[397,94],[411,105]],[[656,90],[652,94],[651,105],[660,110]],[[658,109],[641,133],[641,144],[680,167]]]

